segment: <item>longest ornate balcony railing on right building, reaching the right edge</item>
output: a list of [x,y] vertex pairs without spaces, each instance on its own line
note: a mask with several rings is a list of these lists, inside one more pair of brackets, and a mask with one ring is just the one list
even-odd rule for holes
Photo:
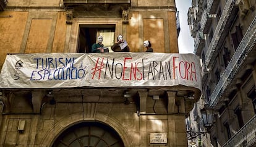
[[228,66],[224,70],[222,77],[220,78],[215,90],[211,94],[211,106],[216,106],[221,95],[224,93],[228,85],[232,82],[234,77],[236,77],[237,72],[241,69],[242,64],[247,59],[256,43],[256,17],[250,24],[250,27],[246,31],[244,38],[242,38],[241,43],[237,47],[236,52],[229,62]]

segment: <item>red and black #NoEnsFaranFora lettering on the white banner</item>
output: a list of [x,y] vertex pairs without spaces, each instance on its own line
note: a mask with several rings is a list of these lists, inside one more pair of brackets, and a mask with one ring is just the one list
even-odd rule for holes
[[[181,59],[179,56],[175,56],[171,59],[173,62],[165,62],[165,65],[162,64],[162,61],[150,61],[148,65],[147,62],[143,62],[143,59],[142,62],[132,62],[132,57],[124,57],[123,62],[116,62],[113,59],[112,64],[109,64],[109,59],[105,60],[104,57],[98,57],[95,67],[92,68],[92,79],[95,79],[96,74],[98,74],[99,80],[103,78],[101,77],[102,70],[102,72],[105,72],[105,79],[106,74],[109,72],[111,79],[113,79],[114,74],[114,77],[118,80],[145,80],[143,75],[147,74],[147,80],[161,80],[161,78],[168,80],[168,77],[169,80],[172,80],[171,77],[173,76],[173,79],[182,78],[197,82],[195,63],[179,59]],[[173,75],[171,75],[172,73]]]

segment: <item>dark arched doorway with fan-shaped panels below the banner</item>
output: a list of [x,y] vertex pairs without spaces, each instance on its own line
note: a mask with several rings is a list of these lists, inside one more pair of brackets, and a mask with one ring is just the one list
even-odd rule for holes
[[100,122],[82,122],[67,128],[54,141],[53,147],[124,146],[117,132]]

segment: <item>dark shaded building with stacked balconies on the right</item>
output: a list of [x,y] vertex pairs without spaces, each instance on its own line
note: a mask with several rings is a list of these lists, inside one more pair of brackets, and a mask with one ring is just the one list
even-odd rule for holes
[[[187,122],[208,132],[192,140],[197,146],[256,146],[255,7],[254,0],[192,1],[188,23],[202,59],[203,97]],[[206,128],[205,104],[214,115]]]

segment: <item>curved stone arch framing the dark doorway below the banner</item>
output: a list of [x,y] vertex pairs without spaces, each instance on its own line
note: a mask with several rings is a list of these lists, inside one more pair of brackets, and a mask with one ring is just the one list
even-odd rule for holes
[[50,128],[47,133],[45,133],[45,136],[43,136],[40,146],[49,146],[51,147],[58,138],[58,136],[64,132],[67,128],[69,128],[72,125],[80,124],[82,122],[100,122],[102,124],[109,125],[109,127],[112,127],[120,136],[122,142],[124,143],[124,146],[133,147],[134,143],[132,141],[131,136],[129,135],[126,128],[122,127],[119,120],[115,119],[114,117],[111,117],[107,114],[97,113],[95,114],[95,117],[86,117],[83,118],[83,114],[70,114],[65,115],[65,117],[62,117],[60,120],[55,120],[56,123],[54,124],[54,127]]

